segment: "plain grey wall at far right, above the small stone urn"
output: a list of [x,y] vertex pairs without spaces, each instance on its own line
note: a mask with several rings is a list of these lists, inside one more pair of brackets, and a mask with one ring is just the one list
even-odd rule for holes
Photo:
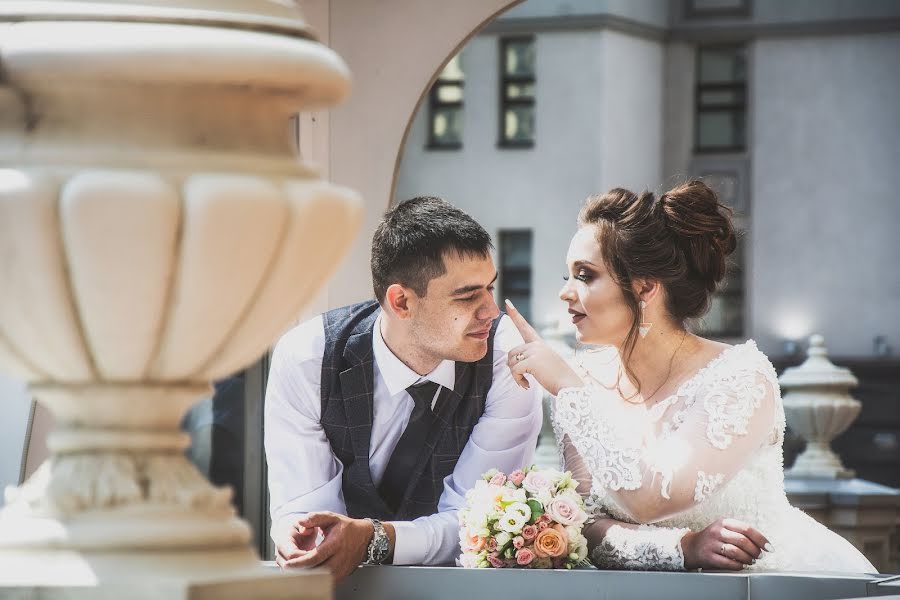
[[900,34],[761,40],[752,65],[753,335],[900,350]]

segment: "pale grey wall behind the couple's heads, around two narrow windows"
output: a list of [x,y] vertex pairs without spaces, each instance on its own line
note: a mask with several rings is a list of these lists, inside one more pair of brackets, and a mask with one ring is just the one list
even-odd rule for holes
[[556,291],[584,199],[614,185],[656,188],[661,181],[663,50],[611,31],[541,33],[535,43],[534,147],[497,147],[498,36],[478,36],[462,55],[463,149],[425,149],[423,103],[395,198],[443,196],[495,239],[499,229],[532,229],[532,314],[546,322],[564,313]]

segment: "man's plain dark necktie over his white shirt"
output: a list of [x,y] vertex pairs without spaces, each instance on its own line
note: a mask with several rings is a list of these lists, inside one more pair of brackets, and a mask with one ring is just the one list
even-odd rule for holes
[[400,436],[397,446],[391,453],[384,475],[381,478],[381,484],[378,486],[378,492],[387,505],[394,512],[400,508],[403,501],[403,495],[406,492],[406,486],[412,475],[413,469],[422,455],[422,449],[425,447],[425,441],[428,439],[428,432],[431,430],[431,424],[434,421],[434,413],[431,411],[431,403],[434,400],[434,394],[438,389],[438,384],[433,381],[425,381],[418,385],[411,385],[406,388],[409,395],[412,396],[415,407],[409,415],[409,423]]

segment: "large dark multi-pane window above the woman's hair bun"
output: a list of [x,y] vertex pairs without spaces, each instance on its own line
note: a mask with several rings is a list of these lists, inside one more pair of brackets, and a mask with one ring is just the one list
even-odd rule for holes
[[747,60],[744,46],[697,50],[697,152],[740,152],[746,146]]

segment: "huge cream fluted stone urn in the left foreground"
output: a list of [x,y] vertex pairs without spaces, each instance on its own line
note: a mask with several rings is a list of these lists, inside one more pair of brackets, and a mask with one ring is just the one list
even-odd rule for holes
[[0,596],[330,597],[261,575],[179,422],[358,229],[291,127],[347,67],[276,0],[8,1],[0,32],[0,368],[57,423],[0,511]]

